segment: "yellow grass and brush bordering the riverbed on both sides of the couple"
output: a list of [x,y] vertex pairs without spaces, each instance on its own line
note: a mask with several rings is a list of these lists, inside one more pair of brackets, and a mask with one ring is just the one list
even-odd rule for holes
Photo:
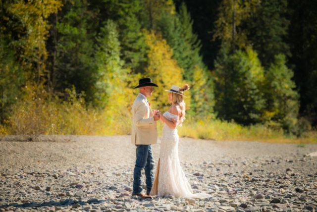
[[[42,92],[43,93],[43,92]],[[158,133],[163,124],[159,121]],[[82,96],[68,91],[67,101],[30,94],[11,108],[10,117],[0,125],[0,139],[4,135],[129,135],[132,127],[131,108],[110,107],[97,110],[87,106]],[[180,137],[216,141],[259,141],[270,143],[317,143],[317,131],[311,130],[297,138],[282,129],[263,124],[242,126],[235,122],[186,117],[178,127]]]

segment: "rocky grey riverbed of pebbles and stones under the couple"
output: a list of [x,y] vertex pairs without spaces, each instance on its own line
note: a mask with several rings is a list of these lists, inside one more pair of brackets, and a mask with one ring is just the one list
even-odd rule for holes
[[[0,211],[271,212],[317,211],[316,144],[179,141],[193,191],[209,199],[132,194],[130,136],[59,136],[0,142]],[[13,139],[14,140],[14,139]],[[160,140],[153,145],[156,164]],[[143,175],[144,183],[145,177]]]

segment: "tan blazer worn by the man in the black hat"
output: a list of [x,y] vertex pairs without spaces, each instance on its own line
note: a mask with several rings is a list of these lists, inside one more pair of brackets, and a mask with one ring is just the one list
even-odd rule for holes
[[157,143],[158,127],[153,115],[149,103],[139,94],[132,105],[132,144]]

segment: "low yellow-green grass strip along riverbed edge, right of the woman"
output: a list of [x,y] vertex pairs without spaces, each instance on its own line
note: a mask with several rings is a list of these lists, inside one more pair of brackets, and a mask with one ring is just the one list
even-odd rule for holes
[[257,124],[242,126],[237,123],[206,118],[192,118],[178,128],[179,137],[191,137],[216,141],[259,141],[272,143],[317,143],[317,132],[312,130],[303,138],[286,135],[281,127],[271,128]]

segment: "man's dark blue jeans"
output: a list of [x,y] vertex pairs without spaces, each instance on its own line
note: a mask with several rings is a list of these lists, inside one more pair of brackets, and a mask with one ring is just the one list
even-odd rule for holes
[[152,145],[135,145],[137,147],[134,172],[133,172],[133,191],[132,194],[142,192],[142,169],[144,168],[147,192],[150,193],[154,182],[154,159],[152,154]]

